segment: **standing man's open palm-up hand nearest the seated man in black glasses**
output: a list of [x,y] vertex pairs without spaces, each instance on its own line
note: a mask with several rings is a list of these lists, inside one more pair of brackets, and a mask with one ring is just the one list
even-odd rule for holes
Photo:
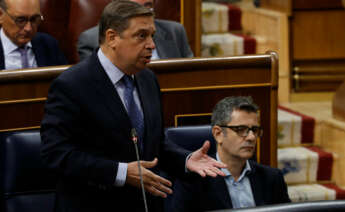
[[217,175],[225,176],[219,168],[225,168],[226,165],[207,155],[210,145],[209,141],[205,141],[200,149],[193,152],[187,160],[186,167],[189,171],[196,172],[202,177],[206,175],[211,177],[216,177]]

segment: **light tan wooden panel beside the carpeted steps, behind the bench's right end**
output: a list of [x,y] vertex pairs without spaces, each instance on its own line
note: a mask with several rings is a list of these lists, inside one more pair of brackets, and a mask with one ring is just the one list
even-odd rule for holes
[[288,16],[283,12],[262,8],[241,7],[245,34],[256,39],[257,53],[268,50],[279,55],[279,102],[290,99],[290,53]]

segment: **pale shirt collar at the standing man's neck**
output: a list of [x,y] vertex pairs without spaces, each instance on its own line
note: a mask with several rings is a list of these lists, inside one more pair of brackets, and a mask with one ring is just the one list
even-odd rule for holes
[[101,48],[98,49],[97,56],[111,82],[114,85],[118,83],[123,77],[124,73],[104,55]]

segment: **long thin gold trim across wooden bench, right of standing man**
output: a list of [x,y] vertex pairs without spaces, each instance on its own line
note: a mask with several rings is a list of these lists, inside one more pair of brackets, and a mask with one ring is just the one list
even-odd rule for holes
[[271,83],[257,83],[257,84],[241,84],[241,85],[219,85],[219,86],[199,86],[199,87],[184,87],[184,88],[162,88],[161,92],[177,92],[177,91],[196,91],[196,90],[220,90],[225,88],[253,88],[253,87],[270,87]]

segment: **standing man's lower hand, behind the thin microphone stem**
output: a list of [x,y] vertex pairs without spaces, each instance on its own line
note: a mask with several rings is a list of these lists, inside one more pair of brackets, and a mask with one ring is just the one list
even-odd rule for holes
[[[167,194],[172,194],[172,190],[170,189],[172,185],[171,182],[148,170],[148,168],[156,166],[157,163],[157,158],[153,161],[140,161],[144,188],[145,191],[148,191],[155,196],[166,198]],[[140,188],[140,176],[137,161],[128,163],[126,183]]]

